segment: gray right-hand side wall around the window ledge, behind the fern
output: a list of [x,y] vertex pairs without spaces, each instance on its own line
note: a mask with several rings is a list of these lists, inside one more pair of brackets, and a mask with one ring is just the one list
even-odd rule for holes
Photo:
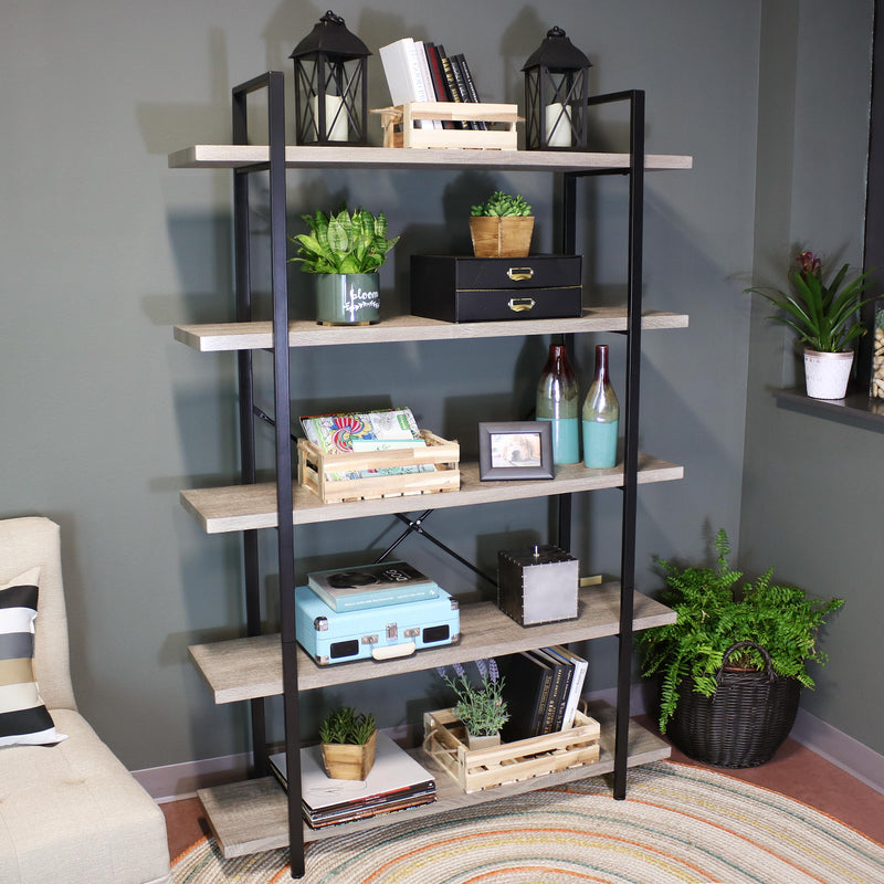
[[[785,280],[789,256],[810,248],[833,267],[862,266],[872,2],[765,4],[759,131],[756,281]],[[796,27],[797,25],[797,27]],[[821,60],[825,60],[822,62]],[[790,109],[793,108],[792,114]],[[867,702],[881,673],[884,620],[881,516],[874,429],[778,408],[774,387],[802,383],[793,341],[754,305],[747,397],[740,558],[844,608],[823,636],[802,706],[877,753],[884,712]]]

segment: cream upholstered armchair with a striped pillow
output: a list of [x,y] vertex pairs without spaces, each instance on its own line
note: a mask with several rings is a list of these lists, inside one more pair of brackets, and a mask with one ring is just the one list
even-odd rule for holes
[[[39,578],[30,581],[39,585],[33,670],[52,716],[49,724],[66,738],[54,745],[2,746],[0,728],[0,882],[170,884],[162,811],[76,711],[59,526],[46,518],[0,520],[0,725],[6,722],[8,734],[10,720],[39,722],[45,715],[42,709],[25,709],[23,716],[19,709],[9,712],[29,687],[14,682],[29,663],[21,659],[30,639],[21,628],[27,612],[20,600],[33,590],[24,587],[15,598],[12,592],[17,578],[34,575],[35,567]],[[3,590],[11,585],[4,613]],[[41,738],[46,737],[33,737]],[[51,730],[49,738],[55,739]]]

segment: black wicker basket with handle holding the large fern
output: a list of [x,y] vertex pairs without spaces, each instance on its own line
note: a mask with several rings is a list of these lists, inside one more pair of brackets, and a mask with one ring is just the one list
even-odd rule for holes
[[706,697],[693,678],[678,686],[678,704],[667,734],[688,758],[715,767],[757,767],[769,761],[794,724],[801,683],[777,675],[767,650],[755,642],[727,649],[724,663],[740,648],[757,648],[762,672],[718,671],[718,687]]

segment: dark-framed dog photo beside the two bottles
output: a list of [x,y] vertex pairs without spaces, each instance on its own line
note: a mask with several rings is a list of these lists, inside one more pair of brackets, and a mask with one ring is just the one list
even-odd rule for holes
[[478,477],[483,482],[552,478],[554,474],[549,421],[478,424]]

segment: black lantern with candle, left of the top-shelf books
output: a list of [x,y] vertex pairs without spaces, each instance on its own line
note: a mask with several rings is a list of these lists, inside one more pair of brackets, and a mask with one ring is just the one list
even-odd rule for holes
[[295,141],[365,145],[368,119],[366,44],[330,10],[295,46]]

